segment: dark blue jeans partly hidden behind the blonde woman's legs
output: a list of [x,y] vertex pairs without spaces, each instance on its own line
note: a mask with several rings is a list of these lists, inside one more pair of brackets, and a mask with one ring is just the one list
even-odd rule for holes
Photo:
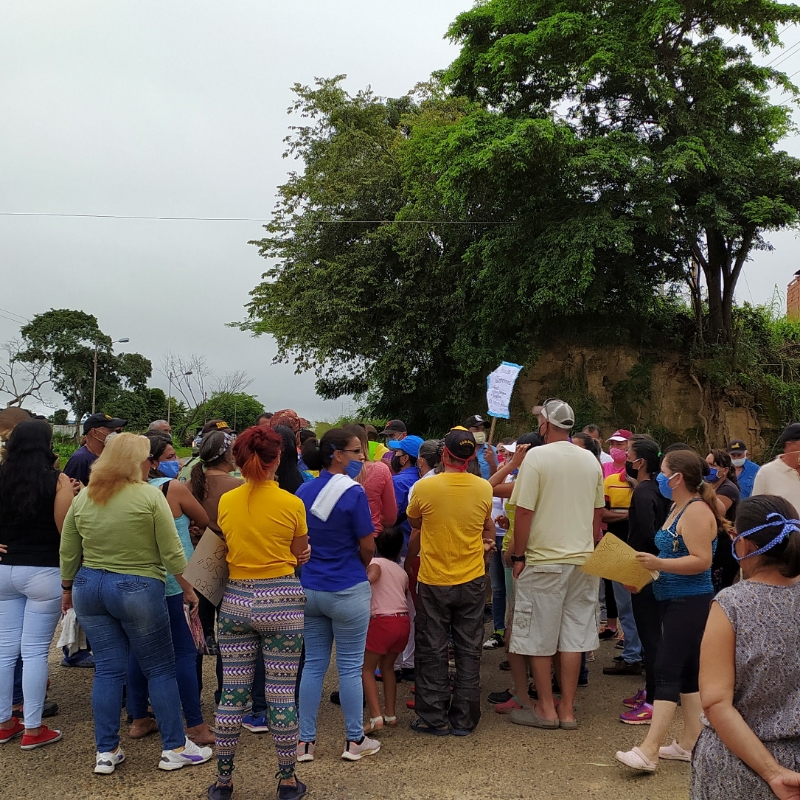
[[[200,689],[197,687],[197,648],[186,623],[182,594],[167,598],[167,613],[183,716],[186,727],[194,728],[202,724],[203,712],[200,711]],[[147,678],[133,652],[128,655],[128,714],[134,719],[147,716]]]

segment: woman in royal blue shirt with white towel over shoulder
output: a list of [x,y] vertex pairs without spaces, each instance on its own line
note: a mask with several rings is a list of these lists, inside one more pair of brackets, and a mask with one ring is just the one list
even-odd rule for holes
[[306,660],[300,679],[298,761],[313,761],[322,681],[336,640],[336,669],[347,742],[342,758],[358,761],[380,744],[364,735],[361,667],[369,627],[367,566],[375,553],[374,526],[364,489],[353,480],[365,454],[357,436],[341,428],[303,446],[303,461],[319,478],[297,496],[306,507],[311,558],[300,582],[306,593]]

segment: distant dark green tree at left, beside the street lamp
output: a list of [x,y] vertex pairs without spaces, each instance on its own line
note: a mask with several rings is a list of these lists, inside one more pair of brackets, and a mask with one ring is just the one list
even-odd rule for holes
[[53,388],[80,421],[90,413],[95,347],[97,348],[96,407],[103,408],[120,387],[143,388],[152,373],[150,361],[138,353],[115,355],[111,337],[97,319],[83,311],[51,309],[37,314],[20,331],[23,362],[49,364]]

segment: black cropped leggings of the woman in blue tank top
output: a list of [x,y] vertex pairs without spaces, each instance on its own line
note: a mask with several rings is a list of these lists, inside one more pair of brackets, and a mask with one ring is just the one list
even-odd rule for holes
[[658,600],[661,639],[656,654],[656,700],[677,703],[682,694],[699,691],[700,643],[713,593]]

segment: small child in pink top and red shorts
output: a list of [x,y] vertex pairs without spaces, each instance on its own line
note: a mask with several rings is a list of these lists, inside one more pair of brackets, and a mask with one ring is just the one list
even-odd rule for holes
[[[384,725],[397,725],[395,703],[397,678],[394,662],[405,650],[411,631],[406,592],[408,575],[397,563],[403,547],[403,531],[397,526],[384,528],[375,538],[378,555],[367,568],[367,578],[372,588],[367,649],[364,653],[362,679],[364,696],[369,707],[369,726],[365,733],[373,733]],[[375,682],[375,670],[380,666],[383,676],[384,714]]]

